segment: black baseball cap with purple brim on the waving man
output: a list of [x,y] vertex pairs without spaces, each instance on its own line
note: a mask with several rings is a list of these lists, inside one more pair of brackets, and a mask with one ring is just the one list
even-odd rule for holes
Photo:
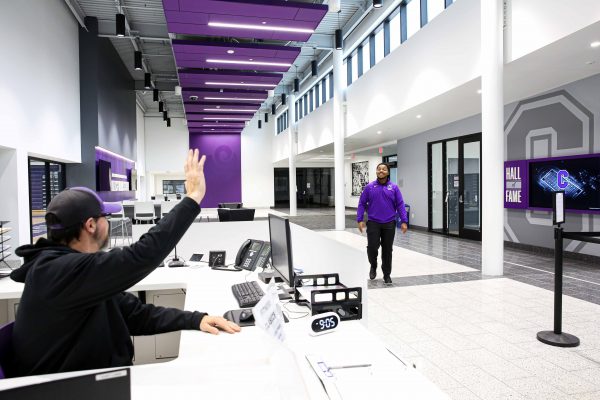
[[63,190],[50,201],[46,216],[58,219],[50,229],[65,229],[87,221],[121,211],[119,204],[104,203],[98,193],[83,186]]

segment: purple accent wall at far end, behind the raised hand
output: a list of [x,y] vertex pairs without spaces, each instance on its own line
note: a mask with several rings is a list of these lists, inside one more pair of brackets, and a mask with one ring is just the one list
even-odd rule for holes
[[242,201],[241,147],[239,134],[190,134],[190,149],[206,155],[206,196],[200,206]]

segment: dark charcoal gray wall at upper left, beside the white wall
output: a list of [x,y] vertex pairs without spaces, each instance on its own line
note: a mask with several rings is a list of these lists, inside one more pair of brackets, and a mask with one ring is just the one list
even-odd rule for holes
[[[67,164],[67,186],[96,188],[95,146],[136,159],[134,80],[96,18],[79,28],[81,163]],[[132,60],[133,62],[133,60]]]

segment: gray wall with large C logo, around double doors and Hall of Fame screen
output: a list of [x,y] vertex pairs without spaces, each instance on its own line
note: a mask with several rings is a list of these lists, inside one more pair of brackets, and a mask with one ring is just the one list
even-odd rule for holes
[[[505,107],[505,159],[599,153],[600,75]],[[427,143],[481,131],[476,115],[398,141],[398,183],[414,225],[427,226]],[[416,206],[416,207],[415,207]],[[483,210],[485,212],[485,210]],[[551,215],[505,210],[505,240],[553,247]],[[485,227],[483,227],[485,229]],[[567,231],[600,231],[600,216],[567,213]],[[600,255],[600,246],[569,241],[568,251]]]

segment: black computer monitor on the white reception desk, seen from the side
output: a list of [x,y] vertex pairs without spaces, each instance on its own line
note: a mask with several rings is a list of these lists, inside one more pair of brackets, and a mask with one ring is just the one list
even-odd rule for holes
[[271,238],[271,262],[276,273],[290,286],[294,286],[292,263],[292,235],[290,220],[269,214],[269,236]]

